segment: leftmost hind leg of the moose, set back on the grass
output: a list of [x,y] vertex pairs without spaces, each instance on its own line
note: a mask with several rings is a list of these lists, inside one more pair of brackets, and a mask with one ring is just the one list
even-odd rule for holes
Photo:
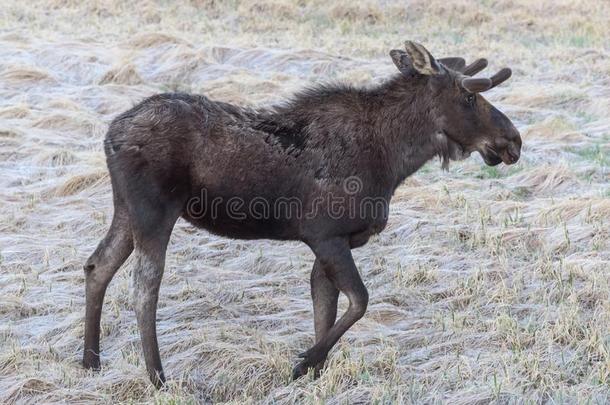
[[85,263],[85,348],[83,366],[100,367],[100,319],[108,284],[133,251],[133,237],[126,206],[115,200],[108,233]]

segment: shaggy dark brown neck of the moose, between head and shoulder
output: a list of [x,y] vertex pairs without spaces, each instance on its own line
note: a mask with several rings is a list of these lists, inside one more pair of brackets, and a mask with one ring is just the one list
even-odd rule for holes
[[373,90],[376,136],[394,188],[430,159],[447,162],[447,145],[438,133],[436,101],[424,79],[396,76]]

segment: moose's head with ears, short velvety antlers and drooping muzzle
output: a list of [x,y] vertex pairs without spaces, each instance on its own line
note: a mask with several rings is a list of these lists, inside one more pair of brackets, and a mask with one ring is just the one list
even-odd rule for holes
[[403,75],[426,81],[435,98],[430,113],[449,157],[457,160],[478,151],[489,166],[519,160],[519,131],[481,95],[507,80],[512,74],[509,68],[491,78],[475,78],[472,76],[487,67],[487,60],[477,59],[468,66],[463,58],[437,60],[412,41],[405,42],[404,51],[390,51],[390,56]]

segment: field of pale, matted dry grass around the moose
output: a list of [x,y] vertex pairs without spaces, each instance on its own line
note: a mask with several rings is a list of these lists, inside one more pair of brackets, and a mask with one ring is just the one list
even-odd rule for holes
[[[610,402],[610,2],[51,0],[0,5],[0,403]],[[522,159],[428,163],[354,251],[371,302],[318,380],[299,243],[180,221],[145,373],[128,260],[80,365],[82,265],[112,215],[108,123],[158,92],[265,105],[394,74],[405,39],[487,57]],[[345,309],[342,297],[340,308]]]

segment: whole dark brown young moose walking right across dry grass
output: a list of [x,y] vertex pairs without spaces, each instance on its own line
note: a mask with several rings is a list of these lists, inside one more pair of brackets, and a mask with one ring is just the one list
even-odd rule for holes
[[[390,55],[400,74],[372,88],[318,86],[262,110],[161,94],[112,122],[105,153],[114,218],[84,266],[85,367],[99,368],[106,287],[135,250],[134,306],[146,369],[156,386],[164,384],[155,317],[167,244],[182,217],[218,235],[299,240],[311,248],[316,343],[301,354],[293,377],[319,372],[366,311],[368,292],[351,249],[384,229],[398,185],[435,156],[444,167],[473,151],[491,166],[519,159],[519,132],[480,95],[508,79],[510,69],[473,78],[484,59],[468,66],[462,58],[436,60],[410,41]],[[236,212],[235,198],[242,207],[264,201],[269,212]],[[384,202],[381,212],[354,209],[371,199]],[[275,204],[285,200],[298,202],[300,212]],[[212,202],[214,210],[201,209]],[[349,307],[336,320],[339,292]]]

